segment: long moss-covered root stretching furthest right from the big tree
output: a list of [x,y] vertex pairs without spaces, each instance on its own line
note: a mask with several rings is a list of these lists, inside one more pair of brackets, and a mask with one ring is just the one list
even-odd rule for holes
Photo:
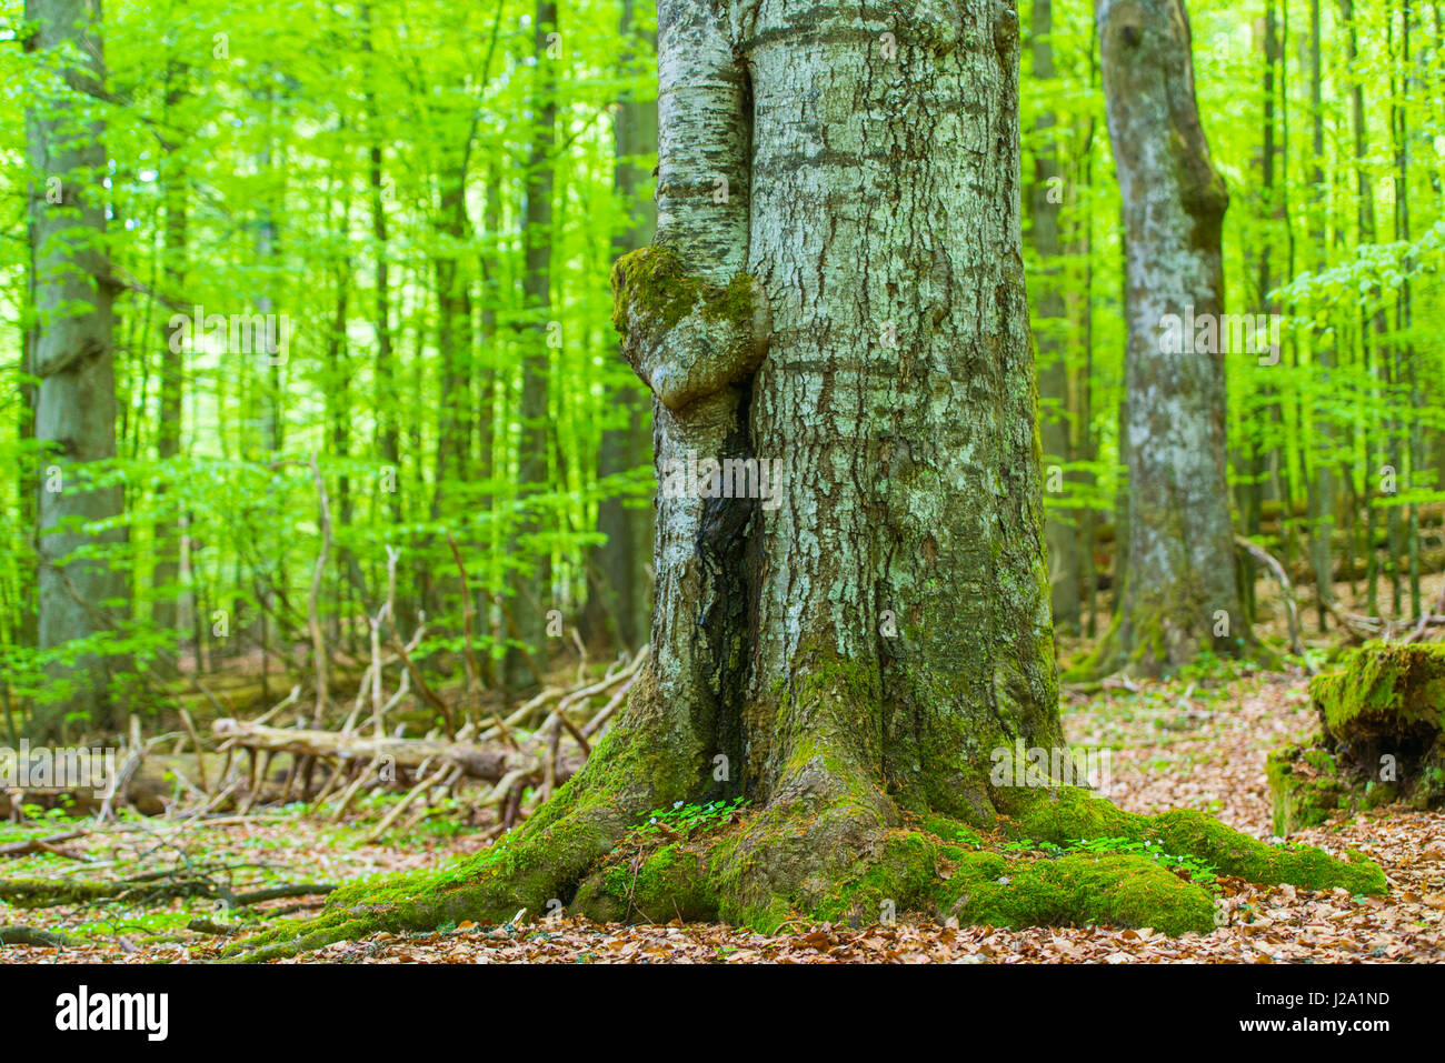
[[1065,787],[1039,790],[1010,822],[1020,838],[1056,845],[1079,839],[1126,838],[1153,841],[1173,855],[1194,855],[1224,875],[1237,875],[1261,885],[1290,882],[1309,890],[1342,887],[1355,894],[1389,890],[1379,865],[1358,854],[1335,859],[1321,849],[1266,845],[1257,838],[1224,826],[1202,812],[1176,810],[1140,816],[1095,797],[1087,790]]

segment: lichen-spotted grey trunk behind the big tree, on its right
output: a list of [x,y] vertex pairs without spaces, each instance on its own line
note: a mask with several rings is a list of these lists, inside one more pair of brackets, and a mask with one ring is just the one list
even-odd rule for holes
[[1201,342],[1191,325],[1222,324],[1228,194],[1199,126],[1181,0],[1103,0],[1098,27],[1129,244],[1129,570],[1101,663],[1147,674],[1202,648],[1235,653],[1248,637],[1225,480],[1224,341]]

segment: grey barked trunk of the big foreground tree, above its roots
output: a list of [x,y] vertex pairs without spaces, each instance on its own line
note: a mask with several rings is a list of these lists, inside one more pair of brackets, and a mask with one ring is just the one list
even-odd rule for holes
[[659,497],[662,702],[741,758],[724,791],[987,816],[988,751],[1059,739],[1017,19],[714,10],[659,7],[659,233],[614,283],[659,478],[785,475],[766,506]]

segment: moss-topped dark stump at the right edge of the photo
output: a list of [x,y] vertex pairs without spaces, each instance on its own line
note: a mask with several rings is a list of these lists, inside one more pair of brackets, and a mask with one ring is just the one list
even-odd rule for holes
[[1374,643],[1315,676],[1321,735],[1270,754],[1274,833],[1335,809],[1445,804],[1445,646]]

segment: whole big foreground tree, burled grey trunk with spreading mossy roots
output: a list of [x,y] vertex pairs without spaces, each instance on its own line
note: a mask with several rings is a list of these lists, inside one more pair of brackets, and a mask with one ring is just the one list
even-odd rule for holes
[[[1225,874],[1383,890],[1370,864],[1049,784],[1066,780],[1014,13],[665,0],[657,30],[657,233],[614,270],[616,319],[653,393],[659,480],[782,461],[780,495],[660,493],[647,672],[522,828],[234,952],[558,906],[764,930],[905,908],[1212,926],[1209,894],[1153,861],[1013,859],[978,830],[1157,839]],[[1053,770],[1010,765],[1023,747]],[[650,810],[708,797],[743,815],[618,848]]]

